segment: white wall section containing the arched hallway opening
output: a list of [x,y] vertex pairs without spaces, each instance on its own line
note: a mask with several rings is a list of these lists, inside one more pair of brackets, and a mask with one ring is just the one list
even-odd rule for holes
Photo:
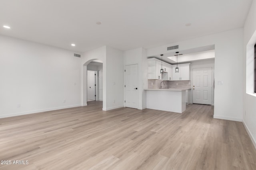
[[82,106],[87,106],[87,64],[100,59],[103,62],[103,108],[106,108],[106,48],[103,46],[82,55]]

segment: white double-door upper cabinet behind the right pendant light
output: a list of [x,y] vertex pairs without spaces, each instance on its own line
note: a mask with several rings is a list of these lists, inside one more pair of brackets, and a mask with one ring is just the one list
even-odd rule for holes
[[172,67],[172,80],[189,80],[189,65],[188,64],[178,64],[179,72],[175,72],[176,66]]

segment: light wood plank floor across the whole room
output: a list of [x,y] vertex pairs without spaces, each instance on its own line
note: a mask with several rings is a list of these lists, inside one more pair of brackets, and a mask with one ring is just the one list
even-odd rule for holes
[[88,106],[0,119],[0,170],[256,170],[241,122],[213,119],[213,107],[184,113]]

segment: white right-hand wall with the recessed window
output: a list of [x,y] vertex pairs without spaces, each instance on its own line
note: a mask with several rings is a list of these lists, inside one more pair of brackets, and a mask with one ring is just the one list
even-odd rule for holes
[[256,1],[252,5],[244,24],[244,110],[243,122],[256,147],[256,95],[253,94],[254,84],[254,44],[256,43]]

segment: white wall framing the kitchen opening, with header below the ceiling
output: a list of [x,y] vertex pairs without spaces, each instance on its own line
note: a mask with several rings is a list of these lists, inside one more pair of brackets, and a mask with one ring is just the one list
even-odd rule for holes
[[206,45],[215,45],[215,82],[214,117],[242,121],[243,73],[243,29],[234,29],[218,34],[207,35],[186,41],[176,42],[161,47],[147,49],[147,56],[166,53],[172,45],[179,45],[179,50],[192,49]]

